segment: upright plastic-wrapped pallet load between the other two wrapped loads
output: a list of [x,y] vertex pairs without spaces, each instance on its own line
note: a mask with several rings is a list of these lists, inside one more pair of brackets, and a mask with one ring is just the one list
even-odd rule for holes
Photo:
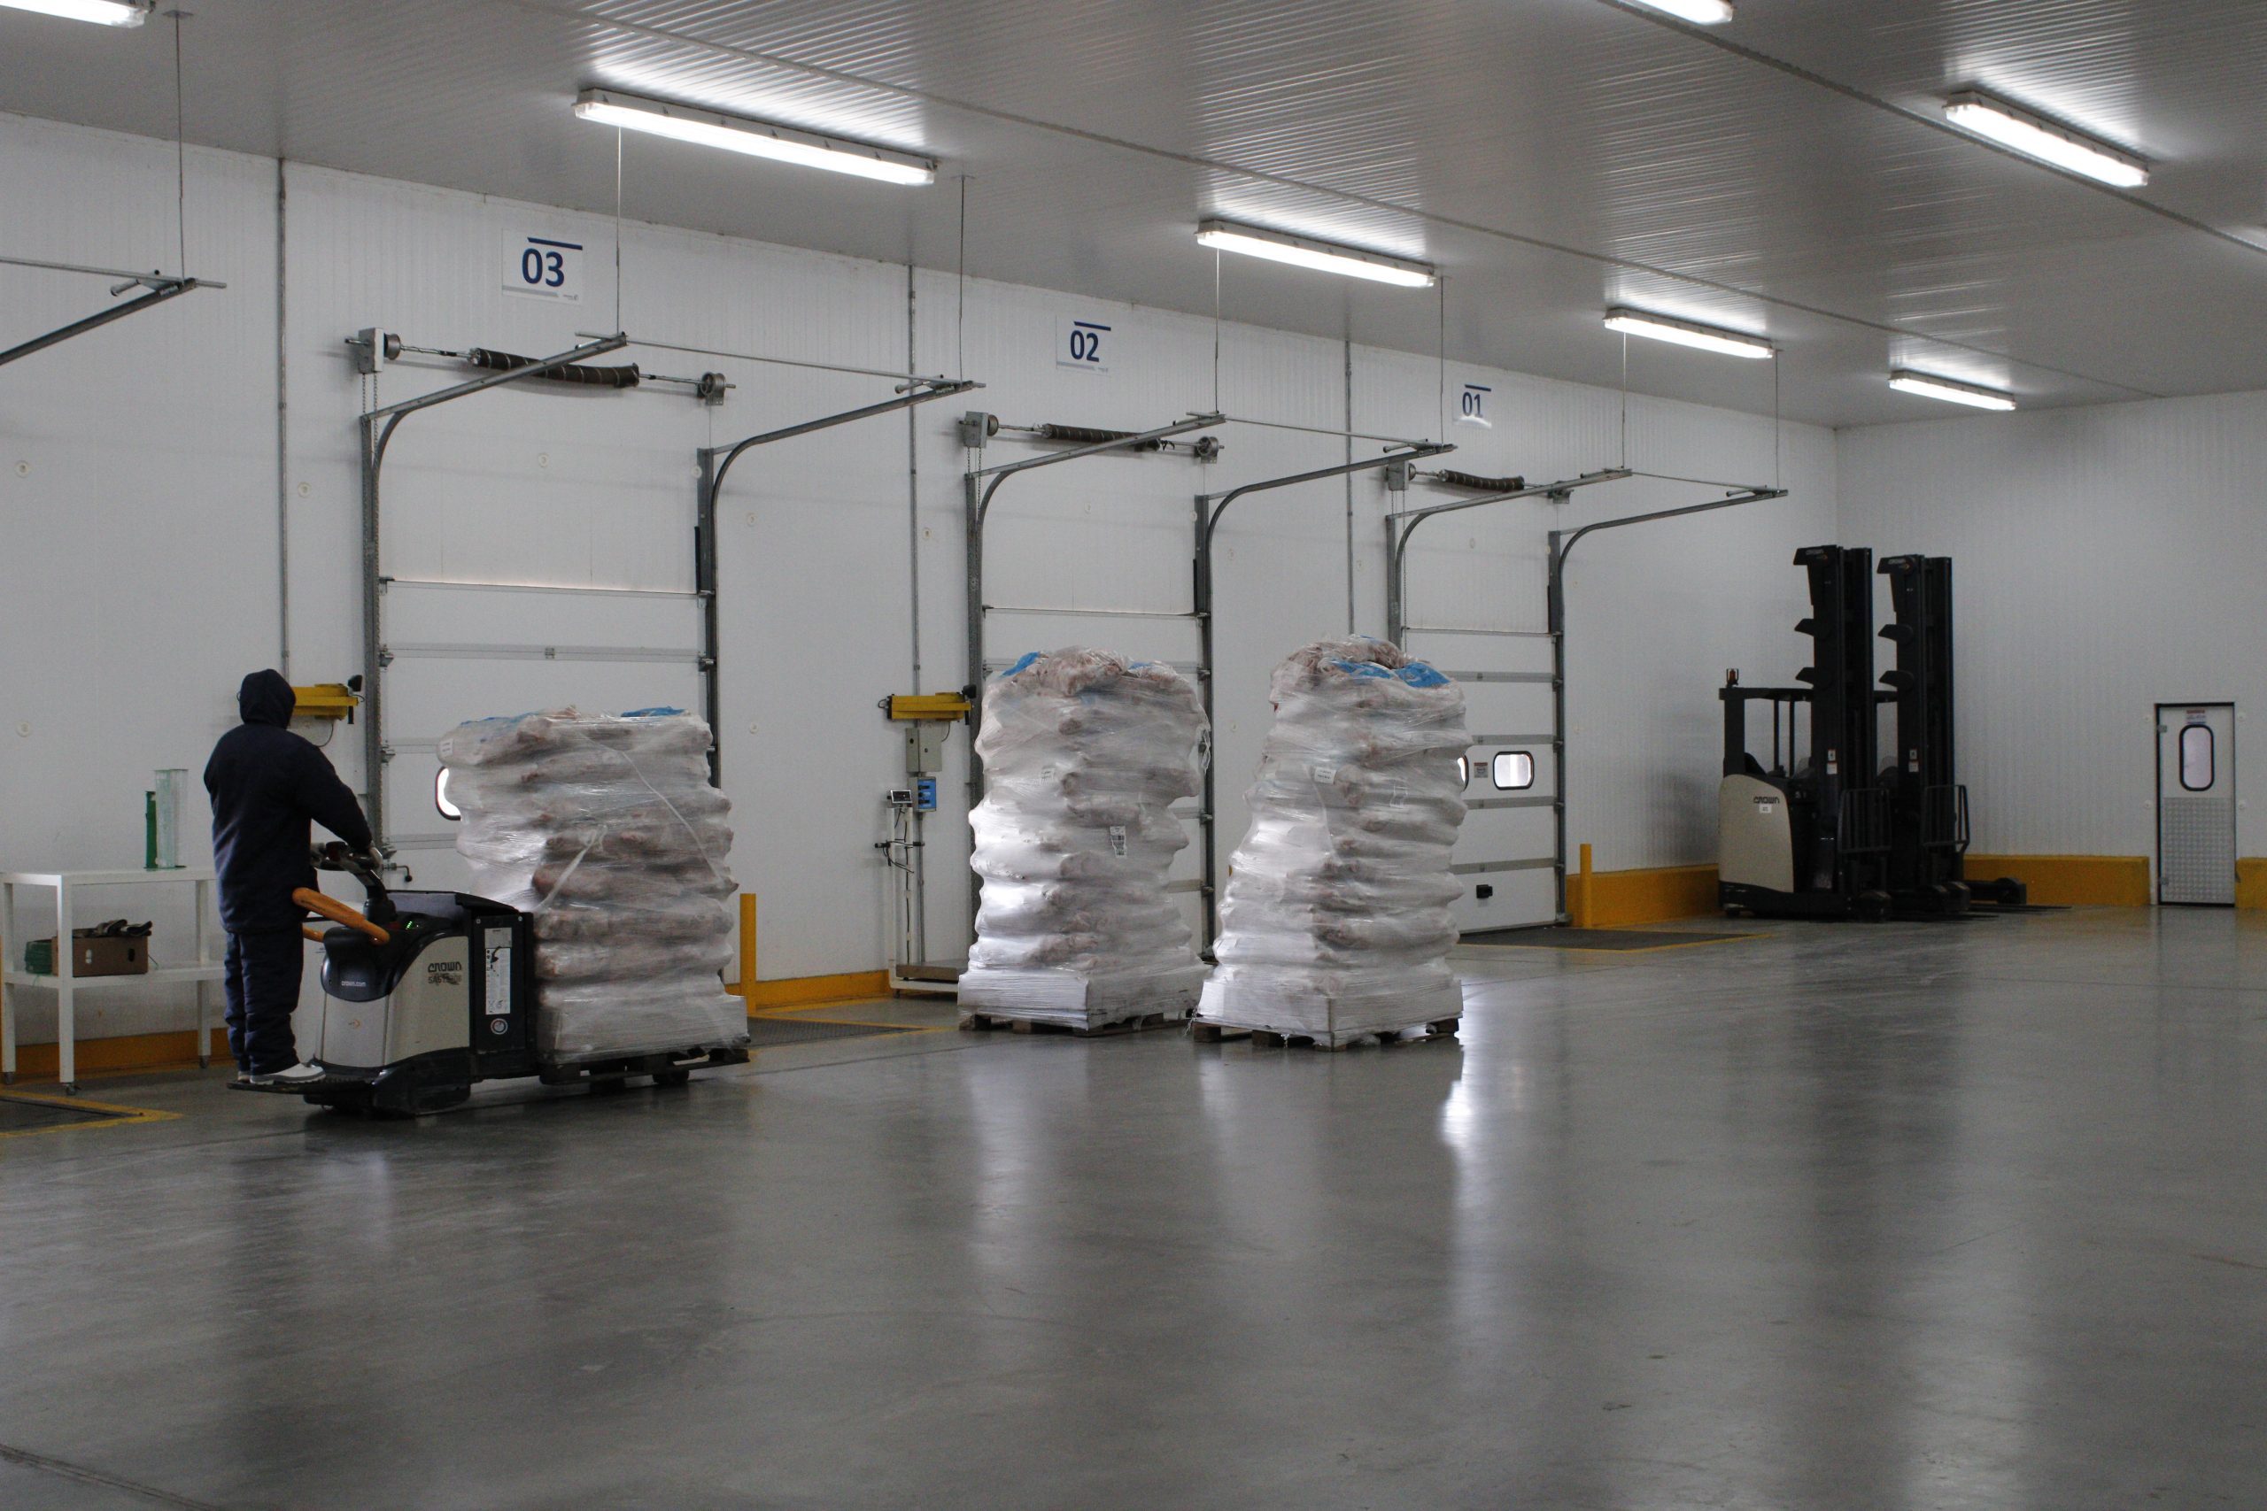
[[1204,709],[1170,666],[1106,650],[1027,655],[984,689],[984,879],[963,1013],[1102,1028],[1188,1017],[1204,985],[1165,872],[1172,813],[1204,784]]

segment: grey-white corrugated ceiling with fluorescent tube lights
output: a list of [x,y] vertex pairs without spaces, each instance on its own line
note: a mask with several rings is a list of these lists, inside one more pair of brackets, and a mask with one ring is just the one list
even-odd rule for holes
[[[170,136],[172,34],[0,11],[0,106]],[[188,134],[612,208],[585,84],[929,152],[902,190],[626,145],[626,208],[859,256],[1213,308],[1202,215],[1424,256],[1451,358],[1616,383],[1612,301],[1768,331],[1791,417],[2267,387],[2267,5],[1739,0],[204,0]],[[2090,188],[1938,125],[1979,84],[2156,161]],[[2267,242],[2267,233],[2258,233]],[[0,251],[16,249],[0,229]],[[1224,308],[1430,351],[1433,294],[1231,258]],[[1635,342],[1630,385],[1750,410],[1764,365]]]

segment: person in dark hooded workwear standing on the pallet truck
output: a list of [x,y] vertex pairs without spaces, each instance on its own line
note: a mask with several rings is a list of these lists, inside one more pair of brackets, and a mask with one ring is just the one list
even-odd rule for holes
[[290,895],[315,886],[308,820],[356,852],[370,850],[370,822],[331,761],[290,732],[297,695],[281,673],[245,677],[236,707],[245,723],[222,734],[204,763],[220,924],[229,931],[229,1053],[252,1081],[317,1081],[322,1072],[299,1065],[292,1042],[306,911]]

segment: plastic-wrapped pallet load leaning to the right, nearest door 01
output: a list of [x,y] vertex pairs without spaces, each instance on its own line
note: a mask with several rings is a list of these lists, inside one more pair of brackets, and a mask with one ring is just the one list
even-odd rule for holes
[[1197,1022],[1338,1047],[1455,1019],[1462,689],[1387,641],[1340,639],[1276,666],[1272,698]]

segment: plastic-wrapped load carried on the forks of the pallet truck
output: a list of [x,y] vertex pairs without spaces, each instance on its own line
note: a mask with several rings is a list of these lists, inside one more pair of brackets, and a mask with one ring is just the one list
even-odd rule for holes
[[551,709],[440,741],[472,890],[535,920],[535,1044],[546,1062],[748,1042],[732,958],[732,804],[705,720],[678,709]]

